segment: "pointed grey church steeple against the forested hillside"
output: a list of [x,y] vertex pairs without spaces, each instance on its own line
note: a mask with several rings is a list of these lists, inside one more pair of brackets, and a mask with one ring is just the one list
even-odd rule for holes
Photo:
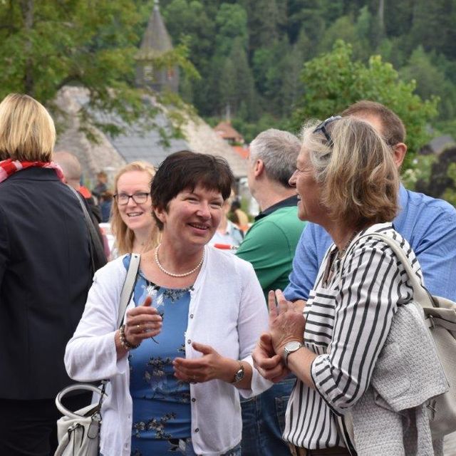
[[158,0],[147,23],[142,37],[140,50],[136,55],[136,85],[149,87],[157,92],[165,88],[177,92],[179,88],[179,71],[173,68],[157,69],[153,59],[172,50],[172,41],[160,14]]

